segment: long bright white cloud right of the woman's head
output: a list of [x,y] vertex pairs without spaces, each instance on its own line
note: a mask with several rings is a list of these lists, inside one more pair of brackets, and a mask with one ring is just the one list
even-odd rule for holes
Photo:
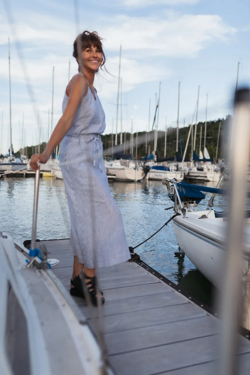
[[[208,42],[226,40],[236,33],[218,15],[172,15],[169,18],[128,17],[107,19],[102,28],[108,50],[130,51],[147,56],[192,57]],[[145,57],[145,53],[143,55]]]

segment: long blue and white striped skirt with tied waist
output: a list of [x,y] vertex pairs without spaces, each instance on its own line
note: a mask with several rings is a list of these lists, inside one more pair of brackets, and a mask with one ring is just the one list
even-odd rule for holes
[[60,166],[70,214],[73,255],[87,268],[130,259],[120,210],[111,195],[97,134],[65,136]]

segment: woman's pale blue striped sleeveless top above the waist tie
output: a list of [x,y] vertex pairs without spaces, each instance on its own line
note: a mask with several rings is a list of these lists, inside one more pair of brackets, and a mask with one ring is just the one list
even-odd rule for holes
[[[78,73],[79,74],[79,73]],[[81,99],[75,117],[66,135],[78,136],[80,134],[102,134],[105,130],[105,114],[95,93],[96,100],[88,86],[87,94]],[[64,112],[69,97],[66,90],[63,98],[62,110]]]

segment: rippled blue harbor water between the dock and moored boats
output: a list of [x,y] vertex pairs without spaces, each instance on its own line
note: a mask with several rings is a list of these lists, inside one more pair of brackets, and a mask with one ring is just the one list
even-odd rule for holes
[[[109,186],[121,210],[129,246],[134,247],[147,239],[170,218],[172,210],[165,211],[164,208],[172,206],[172,202],[161,181],[111,182]],[[31,239],[33,196],[33,178],[0,180],[0,230],[9,233],[19,243]],[[199,204],[199,210],[207,207],[209,198],[210,195]],[[215,202],[219,210],[225,203],[220,198]],[[36,237],[40,240],[70,237],[69,211],[62,180],[40,180]],[[171,222],[135,251],[162,275],[210,304],[211,284],[187,257],[179,259],[174,255],[178,244]]]

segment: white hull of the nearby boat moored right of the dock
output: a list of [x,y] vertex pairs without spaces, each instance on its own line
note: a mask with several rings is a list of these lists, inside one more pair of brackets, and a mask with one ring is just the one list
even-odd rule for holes
[[[222,285],[222,269],[226,256],[226,225],[222,219],[215,219],[214,212],[198,211],[187,213],[187,218],[173,219],[178,245],[196,268],[218,289]],[[202,214],[208,219],[199,219]],[[211,218],[210,218],[211,215]],[[250,251],[250,229],[245,228],[246,243],[243,251],[244,269],[248,268]]]

